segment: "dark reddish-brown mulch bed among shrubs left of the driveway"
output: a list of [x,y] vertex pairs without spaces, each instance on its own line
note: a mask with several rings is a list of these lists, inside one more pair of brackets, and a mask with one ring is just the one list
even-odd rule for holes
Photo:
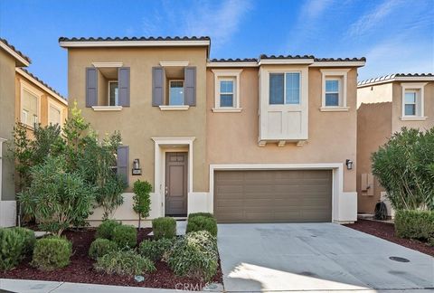
[[[137,235],[138,241],[152,238],[147,234],[151,228],[141,229]],[[137,283],[133,277],[121,277],[117,275],[107,275],[93,269],[94,260],[88,256],[90,243],[94,240],[95,230],[83,229],[79,231],[67,231],[64,235],[72,241],[73,255],[69,266],[53,271],[41,271],[34,269],[29,262],[31,258],[25,259],[17,268],[3,272],[0,271],[0,278],[5,279],[38,279],[49,281],[64,281],[74,283],[90,283],[118,286],[135,286],[149,288],[179,288],[187,284],[187,288],[203,288],[204,283],[199,279],[177,277],[168,268],[165,262],[156,262],[156,272],[147,274],[145,281]],[[217,275],[212,282],[222,283],[222,269],[219,265]]]

